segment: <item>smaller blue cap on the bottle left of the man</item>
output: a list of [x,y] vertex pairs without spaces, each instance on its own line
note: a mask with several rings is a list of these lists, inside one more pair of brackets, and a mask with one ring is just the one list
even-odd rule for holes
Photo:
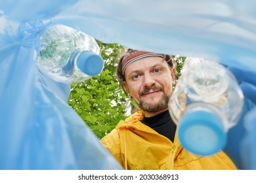
[[95,52],[81,52],[77,58],[77,67],[89,76],[98,75],[103,69],[103,64],[103,59]]

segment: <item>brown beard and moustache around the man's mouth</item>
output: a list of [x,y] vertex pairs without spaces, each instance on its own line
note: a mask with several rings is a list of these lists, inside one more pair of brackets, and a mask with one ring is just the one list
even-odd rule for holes
[[[152,90],[159,90],[161,92],[163,92],[163,88],[158,88],[156,86],[153,86],[152,88],[145,88],[143,90],[143,92],[140,93],[140,96],[142,96],[144,93],[147,93],[148,91],[150,91],[150,89]],[[160,99],[160,101],[158,101],[157,103],[146,103],[145,101],[140,101],[140,103],[138,104],[139,107],[146,111],[146,112],[150,112],[150,113],[156,113],[156,112],[160,112],[161,110],[167,109],[168,108],[168,102],[169,102],[169,97],[168,95],[163,92],[163,95]]]

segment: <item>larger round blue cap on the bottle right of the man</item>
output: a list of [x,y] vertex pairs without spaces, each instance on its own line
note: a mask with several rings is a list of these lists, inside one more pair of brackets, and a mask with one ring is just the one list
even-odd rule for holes
[[203,110],[188,112],[182,116],[178,137],[186,150],[200,156],[215,154],[226,144],[221,118]]

